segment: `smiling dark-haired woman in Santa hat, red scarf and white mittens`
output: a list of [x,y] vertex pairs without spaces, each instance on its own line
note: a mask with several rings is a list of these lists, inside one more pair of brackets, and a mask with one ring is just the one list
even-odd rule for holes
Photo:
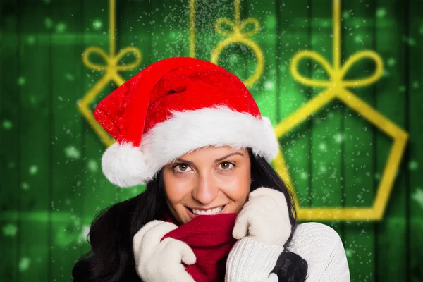
[[[349,281],[331,228],[300,225],[306,235],[319,225],[320,259],[300,247],[304,236],[293,238],[292,197],[269,165],[278,140],[235,75],[208,61],[164,59],[94,116],[117,141],[102,158],[105,176],[147,188],[96,217],[74,281]],[[303,258],[288,251],[291,240]],[[340,247],[338,268],[331,254]]]

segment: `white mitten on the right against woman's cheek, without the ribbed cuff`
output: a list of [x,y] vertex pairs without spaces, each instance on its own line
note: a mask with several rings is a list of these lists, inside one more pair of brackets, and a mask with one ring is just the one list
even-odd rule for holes
[[289,207],[282,192],[257,188],[248,196],[233,228],[233,238],[245,236],[266,245],[283,246],[291,233]]

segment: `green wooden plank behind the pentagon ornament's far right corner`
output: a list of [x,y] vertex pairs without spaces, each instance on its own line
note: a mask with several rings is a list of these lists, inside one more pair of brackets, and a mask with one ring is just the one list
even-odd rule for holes
[[[376,86],[376,109],[401,128],[405,125],[407,67],[405,40],[405,5],[398,1],[376,3],[376,51],[386,63],[384,77]],[[395,42],[395,43],[393,43]],[[392,140],[384,133],[376,135],[376,177],[386,166]],[[403,159],[404,160],[404,159]],[[407,269],[406,254],[406,164],[398,168],[384,220],[376,224],[377,269],[379,281],[403,281]],[[398,259],[403,258],[403,259]],[[393,262],[395,267],[393,267]]]

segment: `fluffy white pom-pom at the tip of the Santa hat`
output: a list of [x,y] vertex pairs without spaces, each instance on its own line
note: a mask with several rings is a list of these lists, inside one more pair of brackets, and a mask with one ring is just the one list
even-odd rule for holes
[[118,142],[104,152],[102,170],[111,183],[122,188],[145,184],[146,178],[148,176],[152,178],[153,174],[139,147]]

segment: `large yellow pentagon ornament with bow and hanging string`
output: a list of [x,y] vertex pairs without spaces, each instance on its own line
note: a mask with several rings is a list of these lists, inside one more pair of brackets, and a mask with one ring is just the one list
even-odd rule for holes
[[[317,52],[311,50],[300,51],[293,57],[290,63],[290,71],[293,78],[304,85],[312,87],[326,87],[326,90],[321,94],[314,97],[312,100],[307,102],[305,106],[302,106],[294,114],[290,115],[281,123],[278,123],[274,128],[275,134],[278,138],[282,137],[288,131],[293,129],[296,125],[305,121],[306,118],[314,114],[315,111],[321,109],[326,104],[331,102],[333,99],[340,99],[351,109],[354,109],[360,113],[367,121],[376,125],[377,128],[382,130],[387,135],[393,138],[393,146],[388,156],[388,162],[386,163],[384,174],[379,183],[379,188],[376,193],[376,197],[372,207],[368,208],[303,208],[300,207],[298,197],[295,193],[295,188],[290,179],[288,169],[286,167],[283,154],[280,150],[278,156],[273,160],[276,171],[279,175],[286,180],[290,188],[293,190],[293,196],[296,207],[298,207],[298,218],[300,220],[372,220],[379,221],[383,218],[388,203],[389,196],[393,187],[393,181],[396,177],[396,171],[400,164],[400,160],[403,156],[405,144],[408,139],[408,134],[398,127],[395,123],[390,121],[388,118],[380,114],[376,109],[366,104],[362,99],[355,96],[353,92],[350,92],[346,87],[361,87],[364,85],[370,85],[381,77],[383,72],[383,62],[379,54],[374,51],[360,51],[357,54],[351,56],[341,66],[341,0],[333,0],[333,66],[324,59],[323,56]],[[361,80],[343,80],[345,74],[353,66],[354,63],[361,59],[373,59],[376,63],[376,71],[369,78]],[[321,66],[329,74],[330,80],[312,80],[305,78],[298,72],[298,62],[301,59],[314,59],[319,62]]]

